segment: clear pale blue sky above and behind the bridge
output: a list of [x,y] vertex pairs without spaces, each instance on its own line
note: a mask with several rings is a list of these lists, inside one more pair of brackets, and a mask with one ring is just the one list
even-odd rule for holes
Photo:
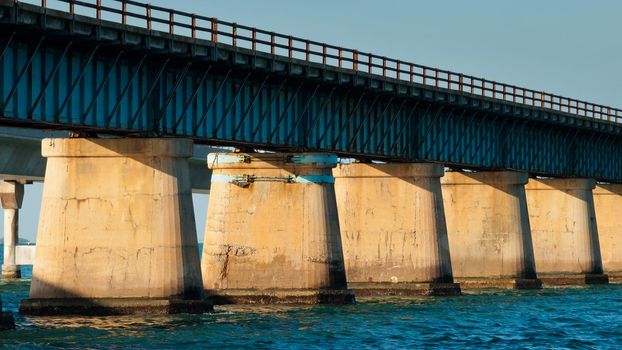
[[[618,0],[151,3],[622,107],[622,1]],[[28,239],[36,232],[40,197],[41,185],[28,187],[21,221],[22,236]],[[195,199],[202,241],[207,198]]]

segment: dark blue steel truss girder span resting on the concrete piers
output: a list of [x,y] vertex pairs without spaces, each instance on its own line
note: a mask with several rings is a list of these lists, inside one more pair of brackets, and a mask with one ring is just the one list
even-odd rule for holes
[[0,0],[0,124],[622,182],[622,126]]

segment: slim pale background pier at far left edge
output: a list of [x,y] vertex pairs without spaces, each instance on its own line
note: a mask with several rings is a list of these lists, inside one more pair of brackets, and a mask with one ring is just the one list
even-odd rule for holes
[[3,280],[21,278],[20,268],[15,263],[15,247],[19,240],[19,209],[23,199],[24,184],[16,181],[0,182],[0,203],[4,209]]

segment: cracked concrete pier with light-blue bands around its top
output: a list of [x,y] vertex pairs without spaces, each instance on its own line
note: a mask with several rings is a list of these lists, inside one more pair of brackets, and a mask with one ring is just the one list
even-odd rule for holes
[[201,268],[216,303],[350,303],[330,154],[210,154]]

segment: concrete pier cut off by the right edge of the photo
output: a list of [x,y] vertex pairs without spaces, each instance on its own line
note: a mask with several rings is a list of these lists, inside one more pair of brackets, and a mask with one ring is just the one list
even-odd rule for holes
[[594,208],[603,269],[610,282],[622,283],[622,185],[596,185]]

